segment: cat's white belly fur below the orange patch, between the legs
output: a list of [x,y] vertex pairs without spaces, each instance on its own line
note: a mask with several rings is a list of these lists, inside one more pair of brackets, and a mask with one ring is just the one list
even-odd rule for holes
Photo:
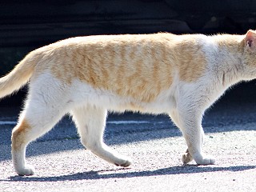
[[126,110],[139,111],[151,114],[169,114],[176,105],[170,90],[165,90],[152,102],[142,102],[138,99],[120,97],[108,90],[97,90],[82,82],[76,82],[75,90],[70,90],[72,101],[76,105],[91,105],[105,108],[106,110],[124,112]]

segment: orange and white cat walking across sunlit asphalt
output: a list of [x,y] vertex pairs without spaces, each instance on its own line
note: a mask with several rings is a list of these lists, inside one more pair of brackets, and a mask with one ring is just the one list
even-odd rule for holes
[[0,78],[0,98],[29,82],[12,131],[19,175],[34,174],[26,146],[70,114],[86,149],[116,166],[130,158],[103,142],[107,110],[168,114],[186,140],[182,162],[202,153],[202,116],[230,86],[256,78],[256,31],[244,35],[122,34],[68,38],[30,52]]

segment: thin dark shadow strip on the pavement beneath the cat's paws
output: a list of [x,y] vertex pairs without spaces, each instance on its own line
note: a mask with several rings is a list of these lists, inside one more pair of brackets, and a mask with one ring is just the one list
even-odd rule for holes
[[[94,179],[104,179],[104,178],[137,178],[137,177],[149,177],[158,175],[170,175],[170,174],[197,174],[197,173],[207,173],[207,172],[219,172],[219,171],[242,171],[242,170],[252,170],[256,166],[226,166],[226,167],[216,167],[216,166],[172,166],[159,170],[144,170],[144,171],[134,171],[131,172],[130,168],[121,168],[122,173],[118,173],[118,170],[99,170],[99,171],[87,171],[77,174],[66,174],[56,177],[21,177],[13,176],[7,181],[9,182],[59,182],[59,181],[77,181],[77,180],[94,180]],[[123,170],[127,170],[126,173]],[[1,179],[0,179],[1,181]]]

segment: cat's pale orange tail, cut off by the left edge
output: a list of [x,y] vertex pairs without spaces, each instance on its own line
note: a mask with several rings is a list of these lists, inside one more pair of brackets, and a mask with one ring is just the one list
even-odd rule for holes
[[37,55],[31,52],[14,67],[14,70],[0,78],[0,98],[12,94],[14,91],[26,85],[34,72],[34,68],[38,62],[37,60]]

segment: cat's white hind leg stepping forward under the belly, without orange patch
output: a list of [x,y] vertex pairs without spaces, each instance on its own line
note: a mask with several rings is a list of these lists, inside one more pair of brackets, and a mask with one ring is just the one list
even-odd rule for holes
[[130,158],[118,154],[103,142],[107,114],[105,109],[96,106],[81,106],[72,110],[71,114],[81,136],[81,142],[86,149],[116,166],[130,166]]

